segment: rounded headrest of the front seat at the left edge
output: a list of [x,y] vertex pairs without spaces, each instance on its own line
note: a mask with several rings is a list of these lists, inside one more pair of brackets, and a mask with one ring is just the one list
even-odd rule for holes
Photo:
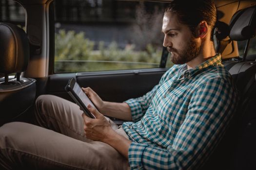
[[29,41],[18,26],[0,23],[0,73],[25,71],[29,61]]

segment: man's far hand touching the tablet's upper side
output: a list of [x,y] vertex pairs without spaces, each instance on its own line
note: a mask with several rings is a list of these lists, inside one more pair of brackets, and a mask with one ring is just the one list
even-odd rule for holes
[[82,90],[85,92],[85,94],[88,96],[88,98],[96,105],[98,110],[102,113],[102,108],[104,106],[104,102],[102,99],[98,96],[98,94],[93,91],[90,87],[83,88]]

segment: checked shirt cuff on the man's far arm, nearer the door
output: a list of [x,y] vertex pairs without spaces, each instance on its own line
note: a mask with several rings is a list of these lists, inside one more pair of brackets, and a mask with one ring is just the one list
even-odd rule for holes
[[136,99],[129,99],[125,101],[125,103],[127,103],[131,108],[132,120],[134,122],[140,120],[143,116],[140,103]]

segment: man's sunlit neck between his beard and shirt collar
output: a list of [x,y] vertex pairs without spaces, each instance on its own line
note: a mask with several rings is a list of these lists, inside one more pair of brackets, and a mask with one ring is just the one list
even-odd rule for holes
[[186,63],[188,66],[188,69],[197,67],[198,65],[214,57],[215,55],[216,55],[216,52],[214,50],[214,45],[212,42],[210,42],[210,44],[202,45],[199,55],[193,60]]

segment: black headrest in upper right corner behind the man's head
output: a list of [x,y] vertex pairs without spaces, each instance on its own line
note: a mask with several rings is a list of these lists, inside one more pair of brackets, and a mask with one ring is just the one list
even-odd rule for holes
[[231,18],[229,37],[235,41],[250,39],[256,34],[256,7],[237,11]]

